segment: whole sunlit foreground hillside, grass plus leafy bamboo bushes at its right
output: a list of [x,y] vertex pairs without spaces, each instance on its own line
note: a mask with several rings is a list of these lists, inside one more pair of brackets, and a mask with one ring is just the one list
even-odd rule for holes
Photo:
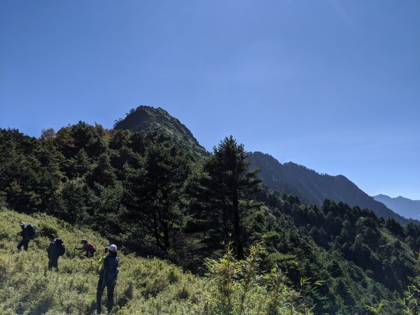
[[[21,221],[34,224],[38,231],[28,251],[15,248],[15,232],[20,230]],[[0,229],[2,315],[97,314],[100,253],[87,259],[73,245],[83,237],[104,248],[109,245],[106,239],[45,214],[27,216],[5,208],[0,209]],[[47,269],[45,235],[50,232],[64,239],[67,246],[59,258],[59,272]],[[120,272],[112,314],[313,314],[300,291],[288,286],[283,278],[273,278],[281,273],[258,272],[260,250],[256,247],[245,262],[237,262],[228,252],[219,260],[207,260],[207,278],[185,273],[158,258],[138,258],[123,251],[118,253]],[[272,283],[279,288],[274,290]],[[106,293],[102,309],[105,300]]]

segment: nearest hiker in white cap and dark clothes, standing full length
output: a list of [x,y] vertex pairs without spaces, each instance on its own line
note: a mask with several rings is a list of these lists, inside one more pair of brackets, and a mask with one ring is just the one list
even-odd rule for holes
[[108,312],[113,308],[113,294],[117,283],[118,261],[117,246],[112,244],[108,247],[108,252],[99,260],[102,262],[102,269],[99,272],[99,281],[97,287],[97,314],[102,314],[101,300],[102,293],[106,287],[106,307]]

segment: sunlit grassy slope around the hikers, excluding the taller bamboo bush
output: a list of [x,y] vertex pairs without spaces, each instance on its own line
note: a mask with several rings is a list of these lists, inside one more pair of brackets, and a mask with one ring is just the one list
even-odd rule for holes
[[[29,243],[27,252],[16,249],[15,235],[20,230],[20,221],[33,223],[38,234]],[[66,254],[59,258],[59,272],[46,268],[48,239],[40,236],[46,230],[55,230],[66,244]],[[77,253],[73,256],[73,248],[79,246],[82,238],[92,241],[98,253],[109,245],[98,233],[78,230],[45,214],[27,216],[1,209],[0,313],[94,314],[100,255],[92,259]],[[121,252],[118,255],[116,314],[200,314],[204,280],[162,260],[137,258]]]

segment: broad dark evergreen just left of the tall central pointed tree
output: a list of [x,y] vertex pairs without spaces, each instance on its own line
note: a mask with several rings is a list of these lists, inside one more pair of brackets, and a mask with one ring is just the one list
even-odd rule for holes
[[182,221],[178,204],[190,173],[190,159],[179,146],[163,142],[148,146],[141,160],[142,168],[125,166],[125,219],[134,240],[141,238],[167,253],[172,231]]

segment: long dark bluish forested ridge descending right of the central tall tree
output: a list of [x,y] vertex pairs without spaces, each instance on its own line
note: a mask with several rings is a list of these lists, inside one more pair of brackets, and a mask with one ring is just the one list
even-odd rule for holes
[[[249,157],[251,167],[260,167],[260,178],[263,183],[281,193],[297,195],[302,202],[322,204],[325,198],[335,202],[346,202],[351,206],[367,208],[377,216],[394,218],[400,224],[407,224],[410,220],[396,214],[381,202],[377,202],[360,190],[345,176],[330,176],[318,174],[312,169],[293,162],[281,164],[271,155],[254,152]],[[419,223],[416,221],[416,223]]]

